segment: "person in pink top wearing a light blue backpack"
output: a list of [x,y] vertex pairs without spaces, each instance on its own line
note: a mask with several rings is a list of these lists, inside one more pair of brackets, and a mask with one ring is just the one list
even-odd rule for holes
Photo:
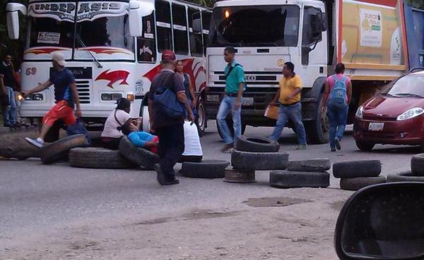
[[343,137],[348,108],[352,100],[352,82],[344,74],[343,63],[336,65],[336,74],[326,79],[324,94],[322,95],[322,112],[327,112],[330,121],[330,149],[341,149],[341,137]]

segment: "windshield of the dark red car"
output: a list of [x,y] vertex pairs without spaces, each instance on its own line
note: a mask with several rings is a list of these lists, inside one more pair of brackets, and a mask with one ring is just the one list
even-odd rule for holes
[[394,97],[424,97],[424,75],[406,75],[391,82],[379,94]]

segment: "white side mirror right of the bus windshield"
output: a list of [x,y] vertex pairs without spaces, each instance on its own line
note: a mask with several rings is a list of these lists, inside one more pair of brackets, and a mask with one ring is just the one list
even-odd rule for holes
[[143,17],[149,16],[154,10],[155,6],[150,2],[129,1],[129,35],[143,36]]

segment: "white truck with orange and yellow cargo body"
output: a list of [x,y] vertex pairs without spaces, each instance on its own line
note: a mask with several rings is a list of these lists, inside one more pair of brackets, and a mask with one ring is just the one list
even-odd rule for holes
[[225,87],[223,51],[232,46],[247,80],[242,131],[246,125],[275,125],[264,111],[276,94],[283,64],[291,61],[303,82],[302,119],[308,142],[328,142],[329,123],[321,99],[336,63],[345,63],[353,82],[351,118],[359,104],[408,69],[403,2],[217,1],[206,51],[208,118],[216,118]]

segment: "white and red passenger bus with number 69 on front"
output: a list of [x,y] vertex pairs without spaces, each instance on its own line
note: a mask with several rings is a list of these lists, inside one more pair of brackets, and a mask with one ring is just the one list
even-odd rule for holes
[[[6,10],[11,39],[19,38],[19,14],[27,16],[23,90],[49,78],[51,54],[61,51],[75,75],[86,123],[104,123],[115,101],[126,97],[132,101],[131,116],[144,116],[146,130],[146,92],[160,70],[161,51],[171,49],[196,86],[199,125],[206,127],[201,93],[211,19],[207,8],[178,0],[30,0],[28,6],[11,3]],[[201,20],[200,32],[193,30],[193,20]],[[42,118],[53,105],[50,87],[28,97],[21,115]]]

